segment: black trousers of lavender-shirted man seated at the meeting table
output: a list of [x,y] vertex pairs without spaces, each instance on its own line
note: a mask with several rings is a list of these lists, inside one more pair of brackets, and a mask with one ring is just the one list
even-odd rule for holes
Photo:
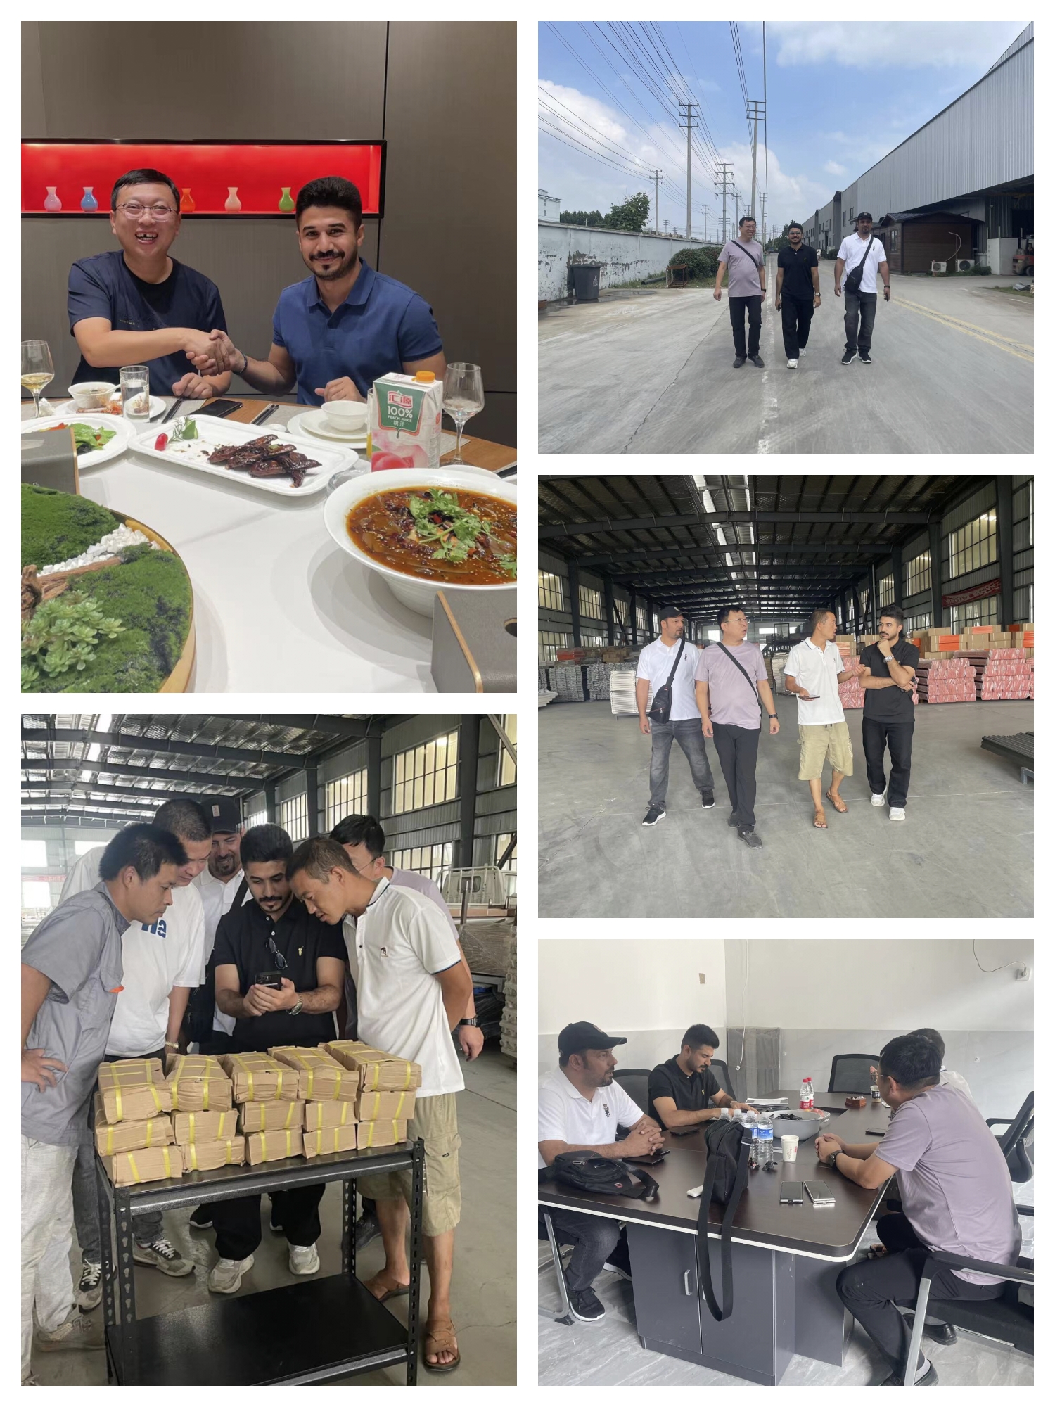
[[[895,1373],[903,1373],[912,1335],[897,1306],[916,1303],[927,1248],[903,1211],[879,1217],[875,1228],[888,1254],[840,1271],[836,1290]],[[952,1271],[941,1271],[931,1280],[930,1292],[938,1300],[996,1300],[1003,1287],[1003,1280],[999,1285],[972,1285]],[[921,1362],[920,1355],[916,1366]]]

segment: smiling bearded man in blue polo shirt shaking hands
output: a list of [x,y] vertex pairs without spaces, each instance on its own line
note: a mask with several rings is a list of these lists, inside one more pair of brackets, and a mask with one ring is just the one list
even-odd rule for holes
[[412,288],[377,273],[359,256],[366,227],[359,190],[322,176],[297,193],[297,239],[311,277],[283,288],[266,362],[239,352],[224,331],[212,353],[196,357],[203,374],[235,371],[257,391],[301,405],[364,401],[388,371],[447,367],[432,308]]

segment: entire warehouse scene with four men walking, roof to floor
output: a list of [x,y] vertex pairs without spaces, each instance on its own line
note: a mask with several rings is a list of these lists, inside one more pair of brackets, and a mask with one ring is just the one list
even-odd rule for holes
[[540,477],[540,916],[1032,916],[1032,553],[1031,476]]

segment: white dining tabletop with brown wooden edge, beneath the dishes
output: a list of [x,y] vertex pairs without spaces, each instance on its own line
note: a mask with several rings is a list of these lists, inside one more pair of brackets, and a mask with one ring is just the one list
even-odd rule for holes
[[[163,400],[166,408],[174,402]],[[276,404],[266,397],[238,400],[242,407],[228,419],[243,424]],[[177,415],[203,405],[183,401]],[[262,432],[284,428],[304,409],[277,402]],[[45,414],[76,418],[73,404],[59,397]],[[162,432],[166,414],[158,409],[151,428]],[[23,421],[32,418],[32,402],[23,401]],[[305,435],[300,447],[309,452],[311,443]],[[440,464],[452,456],[453,447]],[[516,450],[467,435],[461,459],[511,477]],[[370,471],[364,459],[353,467]],[[188,692],[437,692],[432,618],[402,605],[380,573],[332,540],[324,523],[325,490],[279,497],[132,449],[84,466],[79,478],[86,498],[145,523],[183,559],[194,590],[197,642]]]

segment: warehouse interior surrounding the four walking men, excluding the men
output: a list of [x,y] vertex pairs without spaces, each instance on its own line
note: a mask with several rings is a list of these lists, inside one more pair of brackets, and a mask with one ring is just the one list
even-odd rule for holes
[[[971,654],[976,701],[916,706],[903,826],[868,805],[861,708],[847,706],[855,775],[848,812],[826,832],[810,826],[798,705],[781,678],[816,608],[834,611],[840,639],[859,640],[882,606],[899,605],[921,656],[961,653],[945,630],[962,640],[1003,626],[997,639],[1010,642],[1023,625],[1031,656],[1032,511],[1030,476],[542,477],[540,916],[864,917],[875,888],[890,891],[896,916],[1031,916],[1031,674],[1004,691],[1021,696],[995,699],[985,656]],[[758,749],[762,850],[747,851],[724,823],[713,749],[716,809],[701,812],[674,749],[664,825],[641,827],[650,741],[632,680],[664,604],[682,608],[701,649],[719,636],[717,608],[741,605],[774,668],[781,732]],[[947,647],[931,651],[931,640]],[[983,737],[1017,741],[999,753]]]

